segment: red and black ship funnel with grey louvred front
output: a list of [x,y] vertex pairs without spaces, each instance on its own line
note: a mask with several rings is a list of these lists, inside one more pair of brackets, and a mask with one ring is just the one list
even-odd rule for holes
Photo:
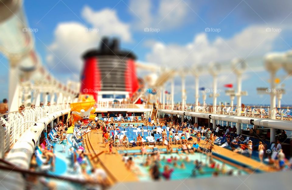
[[137,91],[136,56],[120,50],[117,39],[103,38],[100,48],[85,52],[83,60],[80,93],[108,102],[130,98]]

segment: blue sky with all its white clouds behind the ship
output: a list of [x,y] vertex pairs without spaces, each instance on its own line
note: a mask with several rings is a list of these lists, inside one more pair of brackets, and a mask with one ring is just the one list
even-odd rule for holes
[[[175,70],[184,68],[182,72],[189,70],[187,102],[194,102],[192,70],[196,65],[210,61],[230,62],[234,57],[246,58],[248,62],[267,52],[290,50],[291,5],[288,0],[25,0],[24,12],[29,27],[38,29],[33,33],[36,51],[56,78],[78,81],[81,54],[99,46],[102,36],[117,36],[122,47],[132,50],[139,61]],[[84,31],[84,28],[91,31]],[[145,32],[144,28],[159,31]],[[212,31],[207,32],[206,28]],[[3,56],[0,59],[8,67],[7,59]],[[248,91],[249,96],[242,98],[244,103],[269,104],[268,95],[256,94],[256,87],[269,86],[269,74],[265,69],[253,71],[260,64],[248,63],[249,72],[243,76],[242,89]],[[0,71],[1,99],[8,96],[8,69],[5,67]],[[145,72],[138,72],[138,76],[144,77]],[[283,69],[277,76],[287,91],[282,105],[292,104],[291,77],[287,77]],[[212,88],[210,75],[202,74],[200,79],[201,87]],[[236,83],[230,66],[224,68],[218,80],[221,90],[218,102],[229,102],[223,85]],[[175,101],[178,102],[181,99],[178,76],[175,84]],[[168,83],[166,88],[170,90]],[[207,98],[207,102],[211,103],[212,99]]]

